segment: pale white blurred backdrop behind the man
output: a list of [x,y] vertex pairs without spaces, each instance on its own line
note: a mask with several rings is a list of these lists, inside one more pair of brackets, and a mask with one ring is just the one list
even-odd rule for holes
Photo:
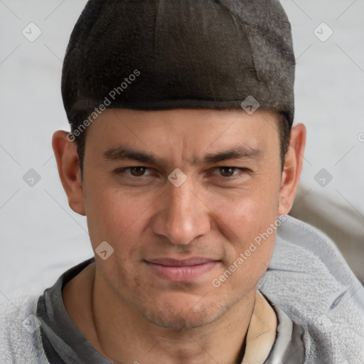
[[[85,3],[0,0],[0,302],[16,291],[49,287],[93,255],[86,220],[68,207],[50,144],[56,129],[69,130],[60,75]],[[364,261],[364,0],[282,4],[297,60],[295,122],[308,132],[292,213],[309,210],[306,217],[316,221],[310,211],[321,208],[331,219],[329,231],[343,225],[355,235],[338,245],[358,272]],[[347,214],[335,215],[331,203]]]

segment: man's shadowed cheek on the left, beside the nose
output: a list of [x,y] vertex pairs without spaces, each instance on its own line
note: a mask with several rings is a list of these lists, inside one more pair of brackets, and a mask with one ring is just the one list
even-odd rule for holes
[[[120,284],[131,284],[135,289],[133,271],[139,264],[143,242],[141,234],[145,230],[145,218],[153,200],[131,197],[120,189],[99,188],[87,198],[87,225],[92,248],[95,252],[101,242],[108,242],[114,250],[109,258],[97,256],[97,267],[111,287],[122,289]],[[129,277],[133,276],[132,282]],[[129,282],[129,283],[128,283]]]

